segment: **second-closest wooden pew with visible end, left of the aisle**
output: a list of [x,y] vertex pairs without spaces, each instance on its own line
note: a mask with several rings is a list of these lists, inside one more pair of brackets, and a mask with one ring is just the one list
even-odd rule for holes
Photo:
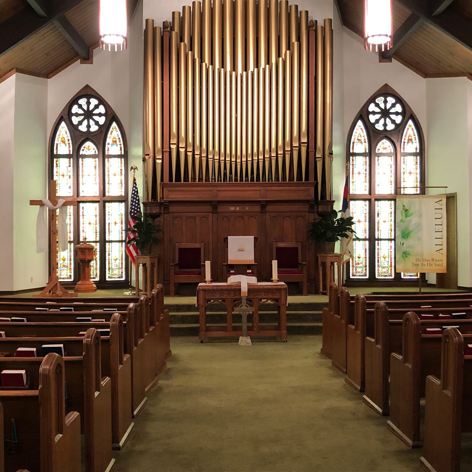
[[[30,378],[29,388],[34,391],[39,388],[39,367],[42,361],[42,357],[3,357],[0,358],[0,371],[25,369]],[[111,470],[115,462],[111,455],[111,381],[110,377],[101,376],[100,333],[94,328],[88,329],[83,339],[83,355],[64,357],[63,361],[68,397],[82,420],[85,470]]]

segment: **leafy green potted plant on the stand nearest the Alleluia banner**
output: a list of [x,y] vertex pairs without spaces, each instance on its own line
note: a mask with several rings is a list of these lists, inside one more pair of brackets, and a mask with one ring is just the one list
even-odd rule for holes
[[318,243],[319,254],[333,254],[337,241],[355,236],[353,218],[337,218],[338,213],[341,211],[320,211],[318,218],[310,223],[308,234]]

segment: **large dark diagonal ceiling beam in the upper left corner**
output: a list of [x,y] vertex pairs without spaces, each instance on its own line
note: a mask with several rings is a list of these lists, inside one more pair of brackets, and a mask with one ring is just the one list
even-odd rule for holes
[[[0,57],[44,28],[44,26],[51,24],[56,18],[64,15],[64,13],[71,8],[76,7],[81,1],[82,0],[62,0],[60,2],[57,0],[38,1],[36,4],[42,4],[43,7],[46,8],[46,11],[47,7],[44,5],[51,5],[51,12],[47,17],[40,16],[34,8],[24,8],[9,17],[6,21],[0,23]],[[44,10],[42,11],[44,12]]]

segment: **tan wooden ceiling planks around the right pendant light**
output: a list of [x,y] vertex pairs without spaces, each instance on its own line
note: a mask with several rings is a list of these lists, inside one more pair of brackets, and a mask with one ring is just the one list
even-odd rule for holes
[[[363,34],[363,2],[338,0],[344,25],[354,33]],[[455,0],[451,7],[472,18],[472,1]],[[394,0],[394,30],[410,15],[410,10]],[[430,24],[422,25],[395,52],[406,67],[424,77],[460,76],[472,74],[472,51]]]

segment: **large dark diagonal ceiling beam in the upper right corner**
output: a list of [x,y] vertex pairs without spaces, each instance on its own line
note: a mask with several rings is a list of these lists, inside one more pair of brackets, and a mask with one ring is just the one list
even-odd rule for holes
[[451,8],[445,9],[440,15],[430,14],[430,2],[427,0],[397,0],[403,6],[419,15],[430,25],[450,36],[472,51],[472,18]]

